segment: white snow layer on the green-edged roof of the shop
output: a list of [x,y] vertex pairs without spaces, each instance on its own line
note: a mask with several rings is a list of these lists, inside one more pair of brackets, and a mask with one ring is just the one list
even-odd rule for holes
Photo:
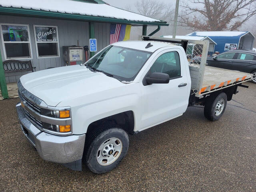
[[108,4],[93,4],[73,0],[1,0],[3,7],[26,8],[52,12],[102,16],[143,22],[160,22],[160,20],[122,10]]

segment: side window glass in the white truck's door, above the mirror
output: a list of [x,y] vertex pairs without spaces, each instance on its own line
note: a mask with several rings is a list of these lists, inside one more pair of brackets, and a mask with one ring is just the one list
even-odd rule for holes
[[166,73],[170,78],[180,76],[180,57],[178,52],[167,52],[162,54],[150,68],[150,72]]

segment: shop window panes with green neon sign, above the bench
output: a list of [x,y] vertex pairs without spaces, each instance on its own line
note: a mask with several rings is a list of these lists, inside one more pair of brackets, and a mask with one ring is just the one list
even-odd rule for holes
[[5,59],[32,58],[29,26],[1,24]]

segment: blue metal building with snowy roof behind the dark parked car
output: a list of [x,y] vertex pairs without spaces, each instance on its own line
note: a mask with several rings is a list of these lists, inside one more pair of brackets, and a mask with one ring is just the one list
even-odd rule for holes
[[186,36],[209,37],[216,42],[214,52],[220,53],[236,49],[252,50],[255,40],[248,31],[200,31]]

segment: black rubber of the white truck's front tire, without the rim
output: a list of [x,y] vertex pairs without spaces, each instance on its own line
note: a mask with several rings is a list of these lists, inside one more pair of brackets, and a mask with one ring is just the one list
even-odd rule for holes
[[[121,140],[122,150],[114,162],[104,166],[97,161],[98,149],[109,138],[118,138]],[[84,161],[89,170],[97,174],[106,173],[116,168],[126,156],[129,148],[128,134],[123,129],[109,124],[104,124],[97,128],[97,130],[91,133],[86,140],[88,141],[86,142],[88,146],[85,146]]]

